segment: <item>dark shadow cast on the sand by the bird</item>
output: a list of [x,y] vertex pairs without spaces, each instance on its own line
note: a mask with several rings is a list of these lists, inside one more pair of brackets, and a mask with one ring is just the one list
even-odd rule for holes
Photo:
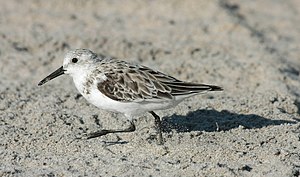
[[189,112],[187,115],[173,114],[164,117],[162,129],[164,132],[176,130],[177,132],[191,131],[226,131],[243,126],[245,129],[262,128],[271,125],[281,125],[285,123],[295,124],[299,122],[289,120],[272,120],[256,114],[236,114],[227,110],[205,110],[199,109]]

